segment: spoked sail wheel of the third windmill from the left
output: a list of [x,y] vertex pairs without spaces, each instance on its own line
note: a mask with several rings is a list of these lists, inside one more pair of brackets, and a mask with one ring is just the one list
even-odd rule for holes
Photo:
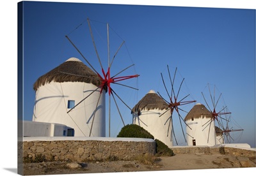
[[[227,115],[230,115],[231,112],[228,112],[227,105],[220,105],[222,93],[220,93],[219,91],[216,90],[216,85],[207,84],[206,87],[208,87],[209,94],[208,94],[208,96],[205,96],[205,94],[202,92],[202,96],[204,98],[204,101],[205,101],[207,107],[209,108],[209,111],[211,112],[211,118],[209,119],[209,121],[205,122],[205,124],[202,125],[204,127],[202,130],[204,131],[207,127],[209,128],[208,136],[207,136],[207,143],[208,143],[209,142],[209,134],[212,129],[211,128],[212,122],[214,122],[214,124],[216,124],[215,122],[217,122],[217,124],[215,126],[219,129],[221,129],[222,133],[227,128],[226,132],[228,133],[229,129],[228,129],[228,127],[225,127],[223,125],[224,124],[223,121],[228,122]],[[223,100],[223,98],[222,98],[222,100]],[[211,101],[210,102],[211,104],[209,103],[209,101]],[[212,105],[212,106],[210,107],[210,105]],[[226,118],[223,116],[225,116]]]

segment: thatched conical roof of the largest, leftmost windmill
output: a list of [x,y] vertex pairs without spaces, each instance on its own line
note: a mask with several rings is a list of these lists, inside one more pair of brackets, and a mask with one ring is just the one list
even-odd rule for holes
[[71,57],[60,66],[39,77],[33,85],[33,89],[36,91],[41,85],[50,82],[86,82],[99,86],[100,78],[79,59]]

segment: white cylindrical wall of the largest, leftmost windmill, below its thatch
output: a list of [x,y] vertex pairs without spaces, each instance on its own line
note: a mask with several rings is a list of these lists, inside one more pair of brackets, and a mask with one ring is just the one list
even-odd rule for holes
[[[67,104],[68,100],[79,103],[95,89],[95,85],[83,82],[51,82],[38,87],[33,121],[64,124],[74,128],[74,136],[89,136],[100,89],[68,114]],[[105,114],[105,91],[102,91],[91,136],[106,136]]]

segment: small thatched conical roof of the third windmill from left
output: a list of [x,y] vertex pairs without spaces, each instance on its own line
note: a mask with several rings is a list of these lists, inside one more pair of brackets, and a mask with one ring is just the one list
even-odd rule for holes
[[185,117],[185,121],[188,121],[189,119],[199,119],[200,117],[207,117],[211,118],[212,114],[207,108],[205,108],[204,105],[198,103],[189,111],[189,113]]

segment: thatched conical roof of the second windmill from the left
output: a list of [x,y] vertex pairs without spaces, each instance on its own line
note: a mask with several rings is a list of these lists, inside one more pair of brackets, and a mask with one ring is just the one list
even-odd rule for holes
[[149,91],[138,103],[132,108],[132,112],[141,110],[168,109],[168,104],[156,94],[155,91]]

